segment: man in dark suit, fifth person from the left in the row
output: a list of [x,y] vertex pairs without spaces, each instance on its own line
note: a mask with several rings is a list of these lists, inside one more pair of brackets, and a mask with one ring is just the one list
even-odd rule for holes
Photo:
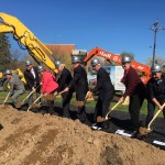
[[[80,65],[80,58],[78,56],[73,56],[72,63],[74,68],[74,77],[73,80],[69,82],[68,87],[64,90],[68,91],[69,89],[75,87],[76,100],[85,101],[85,97],[88,91],[87,73],[85,68]],[[85,106],[78,107],[77,117],[82,123],[89,124]]]

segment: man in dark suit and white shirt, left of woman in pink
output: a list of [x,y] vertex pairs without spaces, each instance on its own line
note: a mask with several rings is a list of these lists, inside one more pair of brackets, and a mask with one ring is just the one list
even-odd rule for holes
[[[40,92],[40,78],[38,78],[37,67],[33,67],[30,61],[26,61],[25,65],[26,65],[26,69],[24,72],[24,78],[26,80],[26,89],[29,91],[36,89],[36,94],[38,94]],[[29,97],[28,103],[29,103],[29,107],[33,103],[33,94]]]

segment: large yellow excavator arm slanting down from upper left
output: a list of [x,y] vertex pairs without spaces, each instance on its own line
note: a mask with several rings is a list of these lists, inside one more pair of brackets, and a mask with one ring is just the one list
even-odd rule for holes
[[44,63],[53,72],[57,73],[57,69],[50,58],[53,53],[16,18],[0,13],[0,33],[12,33],[13,38],[24,45],[30,55]]

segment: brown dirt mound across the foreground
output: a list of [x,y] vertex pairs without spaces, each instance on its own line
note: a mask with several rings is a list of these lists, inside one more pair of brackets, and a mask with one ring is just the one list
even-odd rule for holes
[[0,106],[0,164],[165,164],[165,152],[148,143],[91,131],[78,121]]

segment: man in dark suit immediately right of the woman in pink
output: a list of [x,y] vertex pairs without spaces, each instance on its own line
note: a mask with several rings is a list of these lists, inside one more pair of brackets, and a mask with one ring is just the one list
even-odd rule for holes
[[[57,67],[59,72],[58,78],[57,78],[57,82],[59,85],[57,88],[57,95],[58,95],[69,85],[69,82],[73,80],[73,76],[72,76],[72,73],[65,67],[65,65],[61,63],[61,61],[55,61],[55,66]],[[63,117],[65,118],[73,118],[72,111],[69,110],[69,103],[73,98],[73,92],[74,92],[74,88],[62,94]]]

